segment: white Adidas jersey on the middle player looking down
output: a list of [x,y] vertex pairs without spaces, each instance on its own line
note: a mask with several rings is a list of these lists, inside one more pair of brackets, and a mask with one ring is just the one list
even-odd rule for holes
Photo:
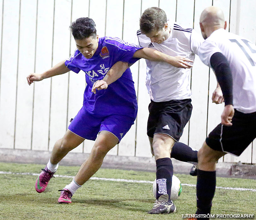
[[[139,45],[170,56],[184,56],[194,60],[202,38],[191,28],[184,29],[179,24],[170,21],[168,25],[171,27],[170,36],[161,44],[151,42],[150,38],[138,30]],[[191,98],[190,69],[176,68],[165,62],[151,60],[146,60],[146,64],[146,86],[154,102]]]

